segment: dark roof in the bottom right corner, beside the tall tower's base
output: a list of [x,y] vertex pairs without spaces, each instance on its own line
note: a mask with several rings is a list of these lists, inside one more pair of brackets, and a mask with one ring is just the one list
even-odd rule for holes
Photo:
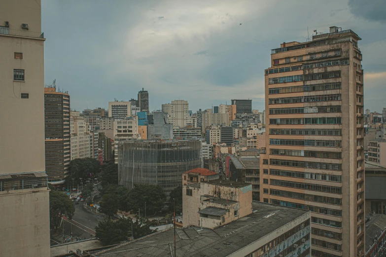
[[386,230],[386,215],[368,214],[366,215],[366,253],[374,244],[374,239],[378,239]]

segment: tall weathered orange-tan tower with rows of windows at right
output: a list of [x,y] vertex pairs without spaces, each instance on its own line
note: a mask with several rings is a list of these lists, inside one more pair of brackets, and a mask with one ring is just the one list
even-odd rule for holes
[[260,196],[312,211],[316,257],[365,253],[360,39],[331,27],[312,41],[282,43],[265,70]]

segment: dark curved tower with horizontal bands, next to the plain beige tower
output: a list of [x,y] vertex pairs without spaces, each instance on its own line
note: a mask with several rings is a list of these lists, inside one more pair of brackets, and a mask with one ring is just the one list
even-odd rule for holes
[[45,172],[48,183],[65,182],[70,166],[70,95],[55,84],[44,88]]

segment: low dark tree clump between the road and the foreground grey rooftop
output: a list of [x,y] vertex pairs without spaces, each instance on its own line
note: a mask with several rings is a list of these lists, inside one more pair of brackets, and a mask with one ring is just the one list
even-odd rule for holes
[[[122,241],[127,241],[131,236],[134,239],[154,233],[156,230],[151,230],[149,223],[140,224],[138,220],[133,222],[131,218],[119,218],[117,221],[105,220],[99,222],[95,228],[95,237],[97,237],[104,245],[118,244]],[[133,228],[133,231],[132,231]]]

